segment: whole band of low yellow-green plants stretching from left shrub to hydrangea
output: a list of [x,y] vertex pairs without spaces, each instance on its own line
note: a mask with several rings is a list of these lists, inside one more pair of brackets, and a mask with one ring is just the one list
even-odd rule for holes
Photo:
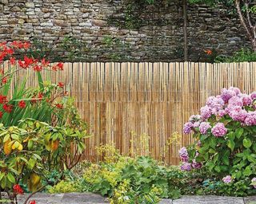
[[100,163],[85,163],[75,168],[66,182],[50,187],[50,193],[72,189],[89,191],[110,198],[111,203],[158,203],[161,198],[182,194],[222,194],[215,175],[201,167],[182,171],[177,166],[159,163],[149,156],[130,158],[110,145],[98,148],[105,155]]

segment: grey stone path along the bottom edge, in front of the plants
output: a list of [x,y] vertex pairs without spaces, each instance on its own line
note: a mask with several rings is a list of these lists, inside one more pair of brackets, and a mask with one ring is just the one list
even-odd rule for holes
[[[19,197],[24,201],[26,195]],[[35,194],[32,200],[37,204],[106,204],[107,199],[98,194],[91,193],[71,193],[71,194]],[[182,198],[172,200],[163,199],[160,204],[256,204],[256,196],[247,198],[223,197],[223,196],[182,196]]]

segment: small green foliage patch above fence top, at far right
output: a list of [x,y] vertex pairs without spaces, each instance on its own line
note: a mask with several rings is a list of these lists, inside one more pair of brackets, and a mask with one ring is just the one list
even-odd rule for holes
[[250,49],[241,49],[238,52],[235,52],[231,57],[223,57],[218,56],[214,60],[215,62],[243,62],[243,61],[256,61],[256,53],[254,51],[250,51]]

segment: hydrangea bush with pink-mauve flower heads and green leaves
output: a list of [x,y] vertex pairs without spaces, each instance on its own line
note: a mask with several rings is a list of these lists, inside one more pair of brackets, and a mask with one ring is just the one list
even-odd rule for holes
[[223,88],[208,98],[200,115],[190,116],[183,131],[196,139],[189,150],[179,151],[183,171],[204,166],[222,182],[245,179],[256,187],[256,92]]

